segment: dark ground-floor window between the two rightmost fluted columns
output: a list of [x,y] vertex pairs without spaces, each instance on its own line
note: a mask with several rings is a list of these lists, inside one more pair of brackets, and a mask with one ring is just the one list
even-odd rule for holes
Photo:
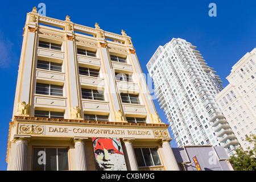
[[139,167],[162,165],[157,148],[134,148],[134,152]]

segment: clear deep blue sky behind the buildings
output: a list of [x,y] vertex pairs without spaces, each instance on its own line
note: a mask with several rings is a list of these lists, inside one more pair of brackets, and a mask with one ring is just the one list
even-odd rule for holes
[[[131,36],[142,71],[158,48],[172,38],[197,46],[206,62],[228,85],[226,76],[246,52],[256,47],[255,1],[3,1],[0,7],[0,170],[6,170],[9,122],[13,113],[16,78],[26,14],[39,3],[46,4],[46,16]],[[216,3],[217,16],[210,17],[209,3]],[[163,122],[163,110],[154,100]],[[176,147],[175,142],[171,142]]]

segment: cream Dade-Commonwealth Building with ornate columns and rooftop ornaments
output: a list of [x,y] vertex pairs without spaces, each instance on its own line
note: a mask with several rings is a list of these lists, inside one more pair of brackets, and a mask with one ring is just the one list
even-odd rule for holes
[[8,170],[179,170],[131,42],[27,14]]

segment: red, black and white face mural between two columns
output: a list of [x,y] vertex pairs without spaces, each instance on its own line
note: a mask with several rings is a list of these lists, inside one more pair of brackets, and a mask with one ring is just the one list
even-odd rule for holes
[[97,171],[126,171],[119,138],[92,138]]

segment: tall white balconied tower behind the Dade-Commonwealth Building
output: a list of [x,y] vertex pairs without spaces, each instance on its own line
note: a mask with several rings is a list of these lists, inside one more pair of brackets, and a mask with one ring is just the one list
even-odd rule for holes
[[184,39],[172,39],[159,46],[147,64],[155,93],[175,136],[178,147],[184,145],[224,146],[232,154],[236,140],[215,101],[222,90],[216,71]]

